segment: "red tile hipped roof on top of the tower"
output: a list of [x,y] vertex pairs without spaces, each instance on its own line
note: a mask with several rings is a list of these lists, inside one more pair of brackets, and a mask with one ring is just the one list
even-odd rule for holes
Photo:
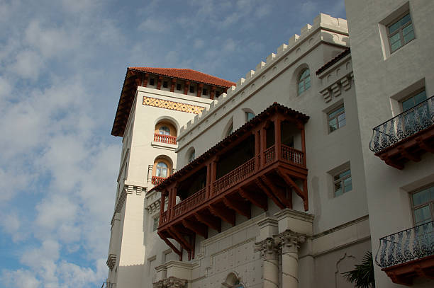
[[235,86],[235,83],[225,79],[211,76],[199,71],[191,69],[179,69],[179,68],[155,68],[155,67],[128,67],[130,70],[140,71],[150,74],[158,74],[171,78],[184,79],[194,82],[201,82],[209,85],[230,87]]

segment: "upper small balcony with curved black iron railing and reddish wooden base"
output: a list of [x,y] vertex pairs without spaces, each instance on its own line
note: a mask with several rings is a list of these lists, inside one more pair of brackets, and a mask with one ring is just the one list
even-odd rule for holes
[[403,169],[434,153],[434,96],[375,127],[369,149],[389,166]]

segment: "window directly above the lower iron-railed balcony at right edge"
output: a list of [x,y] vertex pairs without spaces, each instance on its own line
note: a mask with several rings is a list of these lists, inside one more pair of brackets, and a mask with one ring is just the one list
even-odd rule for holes
[[420,225],[434,220],[434,185],[411,194],[414,224]]

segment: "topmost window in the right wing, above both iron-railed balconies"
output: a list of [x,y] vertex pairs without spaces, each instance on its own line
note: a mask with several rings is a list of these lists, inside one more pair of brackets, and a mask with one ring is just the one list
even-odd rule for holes
[[410,13],[401,16],[397,21],[387,26],[387,37],[391,52],[395,52],[414,39],[413,23]]

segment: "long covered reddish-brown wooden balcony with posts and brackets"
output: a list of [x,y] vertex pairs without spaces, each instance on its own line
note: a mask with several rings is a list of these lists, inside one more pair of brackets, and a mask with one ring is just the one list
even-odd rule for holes
[[[161,207],[158,234],[182,259],[182,250],[194,258],[196,234],[221,231],[221,221],[235,226],[235,214],[251,217],[251,205],[268,209],[268,199],[278,207],[292,208],[292,192],[308,209],[304,124],[308,116],[274,104],[195,161],[152,190],[168,197]],[[301,149],[286,143],[296,132]],[[252,156],[250,156],[252,155]],[[249,158],[250,156],[250,158]],[[181,202],[175,203],[177,196]],[[162,205],[163,206],[163,205]]]

